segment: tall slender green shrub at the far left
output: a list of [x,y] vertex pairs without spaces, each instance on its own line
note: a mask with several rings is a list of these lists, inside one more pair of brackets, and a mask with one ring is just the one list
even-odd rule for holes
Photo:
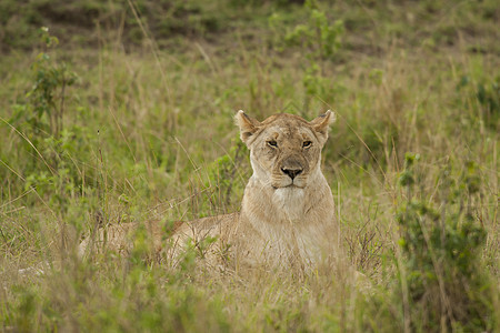
[[[59,173],[60,179],[77,178],[77,172],[70,170],[74,168],[71,167],[73,162],[68,161],[68,154],[77,154],[82,140],[77,134],[84,134],[81,128],[66,129],[63,125],[67,88],[74,84],[78,77],[64,62],[58,62],[49,54],[48,50],[54,48],[59,40],[49,33],[48,28],[40,29],[40,41],[43,51],[31,64],[33,84],[26,94],[26,102],[13,105],[9,120],[22,132],[26,150],[36,150],[36,153],[30,153],[31,165],[24,170],[29,180],[26,188],[36,185],[36,180],[43,179],[46,173],[51,176]],[[56,182],[54,179],[49,181]]]

